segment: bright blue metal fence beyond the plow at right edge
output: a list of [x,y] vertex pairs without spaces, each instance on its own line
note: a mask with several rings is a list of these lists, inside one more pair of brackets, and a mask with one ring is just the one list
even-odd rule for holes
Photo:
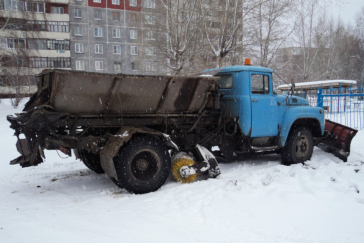
[[317,106],[325,109],[325,118],[351,128],[364,129],[364,87],[317,89]]

